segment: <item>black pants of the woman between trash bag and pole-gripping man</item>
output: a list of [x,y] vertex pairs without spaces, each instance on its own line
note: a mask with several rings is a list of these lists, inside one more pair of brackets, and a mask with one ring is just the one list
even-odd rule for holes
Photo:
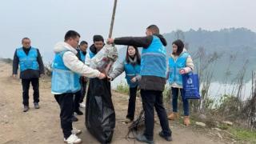
[[130,118],[130,120],[134,120],[137,89],[138,89],[138,86],[130,87],[130,98],[129,98],[128,110],[126,115],[126,118]]

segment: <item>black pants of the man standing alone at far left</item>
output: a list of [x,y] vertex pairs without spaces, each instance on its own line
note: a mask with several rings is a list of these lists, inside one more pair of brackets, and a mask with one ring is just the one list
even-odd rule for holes
[[30,90],[30,82],[33,86],[34,90],[34,102],[39,102],[39,78],[30,78],[30,79],[22,79],[22,98],[23,105],[29,106],[29,90]]

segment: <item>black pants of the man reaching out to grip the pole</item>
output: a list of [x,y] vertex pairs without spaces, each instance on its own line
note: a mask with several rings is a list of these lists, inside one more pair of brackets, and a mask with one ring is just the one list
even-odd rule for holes
[[162,127],[162,131],[166,136],[171,135],[169,123],[166,115],[166,109],[162,102],[162,91],[141,90],[142,106],[145,111],[144,134],[149,140],[153,140],[154,135],[154,108],[158,113],[158,118]]

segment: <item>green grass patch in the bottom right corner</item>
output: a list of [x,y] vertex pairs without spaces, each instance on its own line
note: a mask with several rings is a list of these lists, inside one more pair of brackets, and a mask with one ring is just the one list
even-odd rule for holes
[[234,134],[234,136],[239,141],[256,143],[256,130],[248,130],[239,127],[230,127],[229,131],[231,134]]

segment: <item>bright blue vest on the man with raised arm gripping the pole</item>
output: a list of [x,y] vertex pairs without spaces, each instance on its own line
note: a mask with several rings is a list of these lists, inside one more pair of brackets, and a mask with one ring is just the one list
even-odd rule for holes
[[166,47],[157,36],[142,50],[141,75],[166,78]]

